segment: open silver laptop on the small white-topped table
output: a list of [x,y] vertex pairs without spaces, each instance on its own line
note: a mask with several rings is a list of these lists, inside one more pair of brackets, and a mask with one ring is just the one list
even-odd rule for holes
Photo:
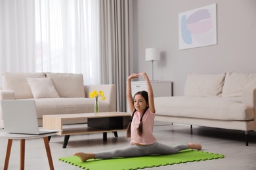
[[7,133],[41,135],[58,131],[39,129],[34,100],[1,100],[1,106]]

